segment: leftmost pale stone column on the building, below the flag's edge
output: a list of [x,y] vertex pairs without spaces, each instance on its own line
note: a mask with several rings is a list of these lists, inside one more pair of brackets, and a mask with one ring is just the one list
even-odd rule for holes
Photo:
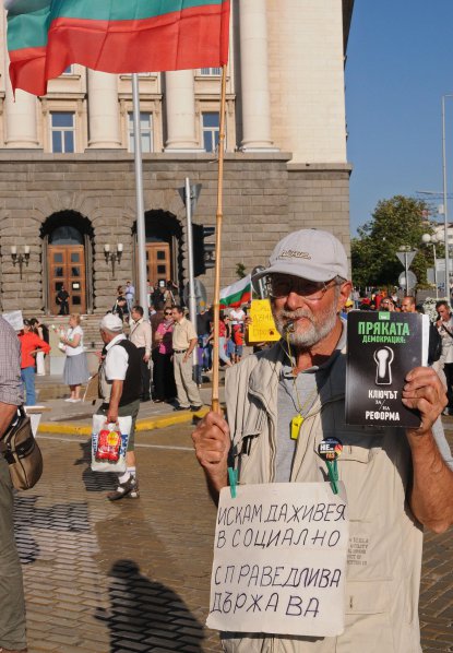
[[9,79],[5,86],[7,147],[38,147],[36,97],[17,88],[14,99]]

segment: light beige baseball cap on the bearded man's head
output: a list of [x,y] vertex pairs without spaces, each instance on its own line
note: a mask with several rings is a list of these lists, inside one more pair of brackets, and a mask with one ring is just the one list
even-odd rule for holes
[[348,278],[345,248],[330,231],[293,231],[275,246],[269,266],[252,278],[274,273],[291,274],[317,282],[327,282],[335,276]]

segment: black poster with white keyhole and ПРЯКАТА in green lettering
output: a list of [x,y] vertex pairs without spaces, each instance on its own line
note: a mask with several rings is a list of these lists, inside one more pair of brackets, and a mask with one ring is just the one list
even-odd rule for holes
[[402,404],[407,372],[422,365],[419,313],[351,311],[347,317],[346,424],[417,428]]

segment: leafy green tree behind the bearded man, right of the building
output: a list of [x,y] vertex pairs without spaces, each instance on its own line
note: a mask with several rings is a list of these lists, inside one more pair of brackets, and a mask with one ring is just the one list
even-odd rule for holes
[[[371,221],[358,229],[351,240],[353,283],[357,286],[394,286],[404,271],[396,252],[409,247],[417,250],[410,270],[418,285],[427,283],[427,268],[433,265],[432,247],[421,244],[424,234],[432,234],[429,210],[422,200],[394,195],[381,200]],[[443,256],[439,247],[438,256]]]

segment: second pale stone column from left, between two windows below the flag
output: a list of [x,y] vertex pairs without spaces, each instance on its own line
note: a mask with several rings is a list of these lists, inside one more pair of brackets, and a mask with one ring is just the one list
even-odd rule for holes
[[88,149],[121,147],[117,75],[88,69]]

